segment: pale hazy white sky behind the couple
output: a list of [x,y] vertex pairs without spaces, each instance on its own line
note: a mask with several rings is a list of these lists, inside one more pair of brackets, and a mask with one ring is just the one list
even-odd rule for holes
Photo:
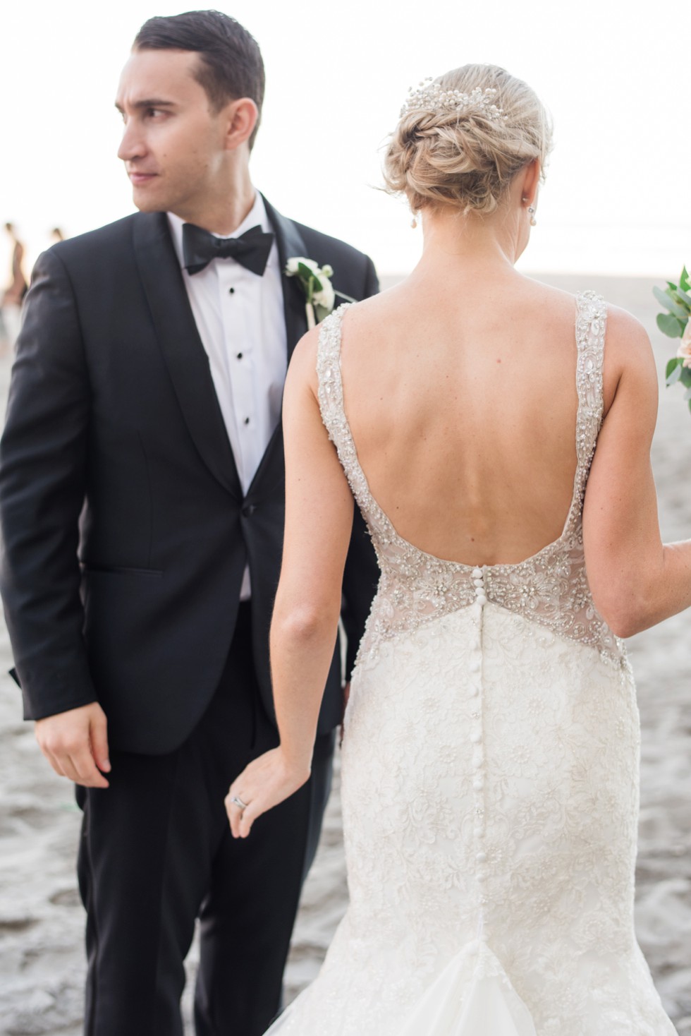
[[[0,219],[35,256],[132,210],[113,102],[137,29],[168,0],[3,4]],[[620,0],[237,0],[267,99],[254,182],[281,211],[404,272],[420,231],[381,183],[408,88],[467,61],[502,64],[552,113],[555,149],[523,268],[673,276],[691,263],[691,7]],[[0,262],[2,258],[0,257]]]

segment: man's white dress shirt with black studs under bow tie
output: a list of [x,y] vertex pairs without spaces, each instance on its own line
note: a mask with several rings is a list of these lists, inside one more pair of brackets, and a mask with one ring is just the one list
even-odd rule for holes
[[[245,269],[235,259],[213,259],[199,274],[184,268],[183,221],[168,213],[182,279],[197,328],[209,357],[220,412],[231,442],[243,493],[246,494],[273,431],[288,368],[288,342],[278,248],[274,241],[264,277]],[[250,227],[273,233],[262,196],[237,230]],[[215,235],[220,237],[220,234]],[[249,597],[249,573],[241,600]]]

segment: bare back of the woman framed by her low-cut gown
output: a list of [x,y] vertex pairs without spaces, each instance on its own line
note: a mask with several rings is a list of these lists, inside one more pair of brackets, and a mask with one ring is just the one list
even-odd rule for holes
[[561,536],[576,469],[575,318],[573,296],[513,271],[452,297],[413,280],[346,315],[346,411],[370,491],[405,540],[497,565]]

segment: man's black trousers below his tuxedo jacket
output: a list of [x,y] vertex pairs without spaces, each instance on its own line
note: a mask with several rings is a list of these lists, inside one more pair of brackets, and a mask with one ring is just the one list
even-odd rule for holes
[[77,789],[85,1036],[182,1036],[183,961],[198,917],[197,1036],[261,1036],[279,1010],[334,739],[318,739],[307,784],[260,817],[248,838],[232,838],[228,787],[277,744],[260,703],[248,605],[240,612],[218,689],[187,741],[159,756],[114,751],[111,786]]

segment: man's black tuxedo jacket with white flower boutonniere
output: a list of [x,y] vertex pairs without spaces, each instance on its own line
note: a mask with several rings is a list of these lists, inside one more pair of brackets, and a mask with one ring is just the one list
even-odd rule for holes
[[[330,263],[378,290],[371,260],[267,203],[281,268]],[[289,353],[304,296],[283,276]],[[233,637],[245,564],[253,657],[273,715],[268,632],[283,531],[275,430],[246,495],[164,213],[63,241],[36,263],[0,442],[1,582],[25,716],[98,700],[111,743],[171,751],[204,713]],[[349,665],[377,582],[359,514],[343,582]],[[341,711],[339,652],[320,716]]]

